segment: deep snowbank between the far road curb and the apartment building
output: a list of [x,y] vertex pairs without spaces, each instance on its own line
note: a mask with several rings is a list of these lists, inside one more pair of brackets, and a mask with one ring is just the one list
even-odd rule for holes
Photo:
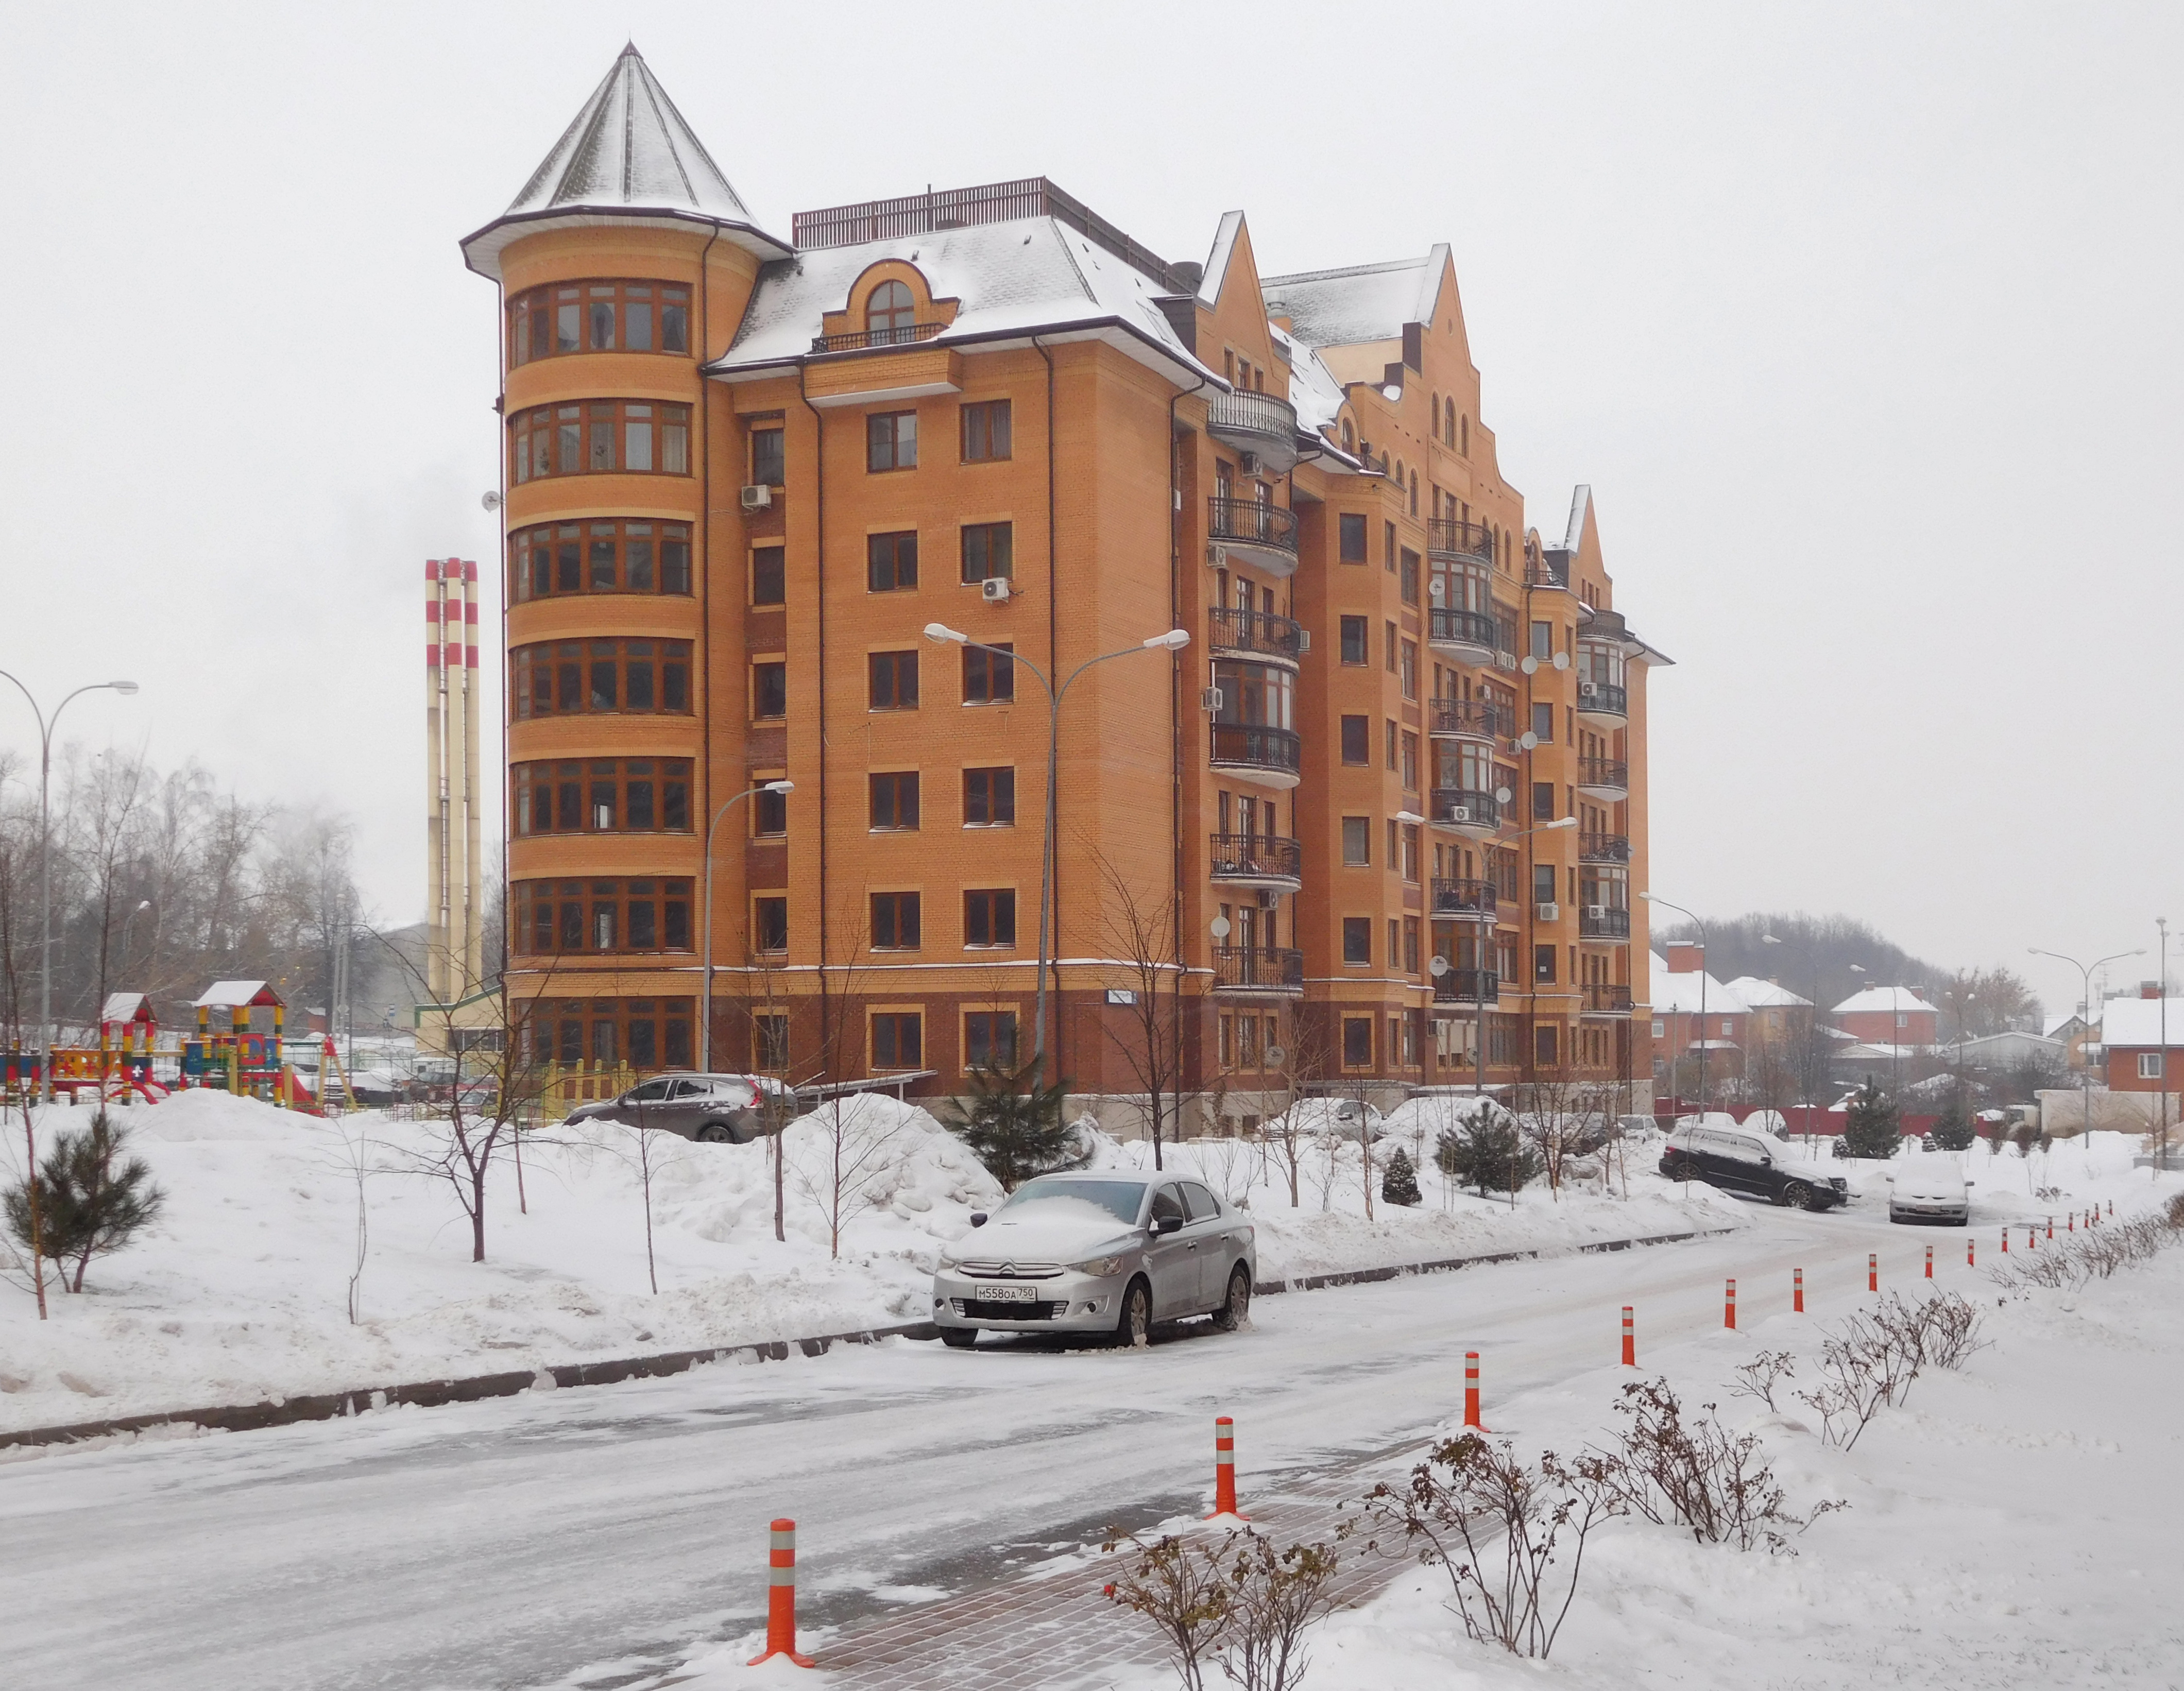
[[[81,1296],[48,1285],[50,1322],[26,1282],[0,1282],[0,1433],[922,1320],[939,1243],[1000,1191],[924,1110],[865,1097],[845,1119],[854,1169],[839,1256],[826,1112],[786,1136],[784,1241],[767,1147],[653,1134],[653,1293],[636,1136],[620,1127],[526,1143],[522,1202],[513,1160],[500,1162],[487,1261],[472,1263],[454,1191],[424,1171],[437,1134],[426,1123],[319,1121],[223,1092],[129,1110],[166,1213],[94,1261]],[[55,1108],[41,1134],[83,1121]],[[1369,1219],[1356,1143],[1304,1147],[1297,1208],[1265,1147],[1195,1143],[1166,1147],[1166,1160],[1251,1210],[1262,1278],[1734,1226],[1745,1210],[1658,1180],[1651,1154],[1631,1158],[1614,1193],[1599,1180],[1559,1197],[1535,1186],[1514,1206],[1450,1193],[1428,1167],[1424,1202],[1396,1208],[1378,1199],[1380,1164],[1396,1145],[1431,1151],[1431,1134],[1413,1145],[1396,1125],[1376,1149]],[[1101,1140],[1096,1156],[1149,1154]],[[0,1178],[13,1180],[20,1158],[20,1136],[0,1138]],[[352,1322],[358,1184],[367,1239]]]

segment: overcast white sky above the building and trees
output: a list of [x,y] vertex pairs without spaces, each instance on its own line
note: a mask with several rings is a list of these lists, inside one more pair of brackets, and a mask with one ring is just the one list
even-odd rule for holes
[[1450,240],[1531,522],[1592,483],[1677,658],[1662,896],[1863,915],[2055,1007],[2027,946],[2184,920],[2175,4],[0,17],[0,669],[133,675],[63,736],[352,808],[387,920],[424,900],[422,561],[496,555],[454,243],[625,37],[782,234],[1044,173],[1173,258],[1236,205],[1269,271]]

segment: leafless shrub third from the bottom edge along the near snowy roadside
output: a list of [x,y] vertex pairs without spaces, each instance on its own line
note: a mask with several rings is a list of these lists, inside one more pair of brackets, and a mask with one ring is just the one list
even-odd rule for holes
[[[1760,1379],[1773,1387],[1773,1374]],[[1710,1403],[1686,1422],[1664,1379],[1625,1385],[1616,1414],[1625,1416],[1616,1446],[1590,1455],[1599,1457],[1616,1501],[1655,1527],[1688,1527],[1701,1545],[1765,1545],[1780,1553],[1789,1549],[1791,1529],[1804,1532],[1817,1516],[1843,1507],[1830,1501],[1808,1516],[1791,1514],[1758,1438],[1730,1433]]]

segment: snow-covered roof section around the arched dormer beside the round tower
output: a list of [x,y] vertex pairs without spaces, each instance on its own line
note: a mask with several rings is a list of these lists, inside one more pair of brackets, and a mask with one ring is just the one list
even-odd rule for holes
[[1171,378],[1227,387],[1175,336],[1155,304],[1173,297],[1164,280],[1053,216],[819,247],[767,264],[736,341],[708,374],[753,376],[812,356],[826,312],[843,310],[850,284],[882,260],[913,264],[935,299],[959,301],[954,321],[919,347],[1007,343],[1033,332],[1092,339],[1105,330],[1123,352]]

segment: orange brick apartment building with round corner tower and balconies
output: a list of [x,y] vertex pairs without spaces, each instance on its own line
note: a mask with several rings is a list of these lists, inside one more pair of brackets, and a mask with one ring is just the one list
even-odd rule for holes
[[1446,247],[1265,277],[1232,212],[1164,262],[1044,179],[782,240],[627,50],[463,253],[505,306],[509,988],[542,1051],[697,1060],[708,819],[786,778],[719,828],[714,1066],[957,1092],[1026,1055],[1024,669],[1125,651],[1059,728],[1077,1092],[1142,1090],[1155,953],[1182,1090],[1232,1116],[1468,1086],[1481,1042],[1487,1084],[1647,1108],[1664,660],[1588,492],[1542,537],[1500,478]]

